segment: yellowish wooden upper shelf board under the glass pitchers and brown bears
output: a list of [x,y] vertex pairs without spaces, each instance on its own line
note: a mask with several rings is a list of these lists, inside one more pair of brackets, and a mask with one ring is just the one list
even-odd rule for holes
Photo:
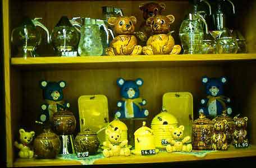
[[193,64],[214,64],[223,62],[255,61],[253,54],[182,54],[182,55],[122,55],[90,57],[37,57],[11,58],[11,65],[30,68],[124,68],[124,67],[166,67],[193,66]]

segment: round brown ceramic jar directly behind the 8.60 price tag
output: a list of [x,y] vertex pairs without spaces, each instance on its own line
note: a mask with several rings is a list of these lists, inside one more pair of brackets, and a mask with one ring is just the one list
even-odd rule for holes
[[89,152],[89,155],[97,153],[99,148],[98,135],[90,129],[86,129],[77,134],[75,138],[76,152]]

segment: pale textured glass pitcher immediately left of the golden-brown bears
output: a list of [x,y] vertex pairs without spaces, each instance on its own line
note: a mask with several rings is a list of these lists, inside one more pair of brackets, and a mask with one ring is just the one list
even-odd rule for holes
[[103,20],[94,18],[83,18],[83,26],[81,26],[81,38],[78,45],[78,53],[80,56],[97,56],[103,54],[102,38],[100,38],[100,27],[104,27],[109,44],[109,34]]

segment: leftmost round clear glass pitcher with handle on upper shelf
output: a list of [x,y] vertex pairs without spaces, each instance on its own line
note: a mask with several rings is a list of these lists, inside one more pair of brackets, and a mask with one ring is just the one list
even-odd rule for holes
[[26,59],[29,57],[36,57],[35,50],[40,45],[41,34],[36,30],[36,26],[42,27],[47,32],[47,42],[49,43],[49,31],[38,20],[41,18],[24,18],[22,24],[12,30],[11,42],[17,46],[19,50],[22,50],[23,57]]

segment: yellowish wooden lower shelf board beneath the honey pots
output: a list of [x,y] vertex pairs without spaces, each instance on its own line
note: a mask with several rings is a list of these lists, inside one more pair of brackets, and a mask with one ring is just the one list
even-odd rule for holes
[[[160,162],[179,162],[179,161],[199,161],[199,160],[212,160],[221,158],[235,158],[235,157],[252,157],[256,156],[256,145],[244,149],[236,149],[230,146],[227,151],[213,151],[207,153],[204,157],[184,153],[167,153],[159,152],[154,156],[116,156],[109,158],[100,158],[93,162],[94,165],[106,164],[143,164],[143,163],[160,163]],[[13,166],[58,166],[58,165],[83,165],[82,161],[78,160],[63,160],[63,159],[17,159]]]

